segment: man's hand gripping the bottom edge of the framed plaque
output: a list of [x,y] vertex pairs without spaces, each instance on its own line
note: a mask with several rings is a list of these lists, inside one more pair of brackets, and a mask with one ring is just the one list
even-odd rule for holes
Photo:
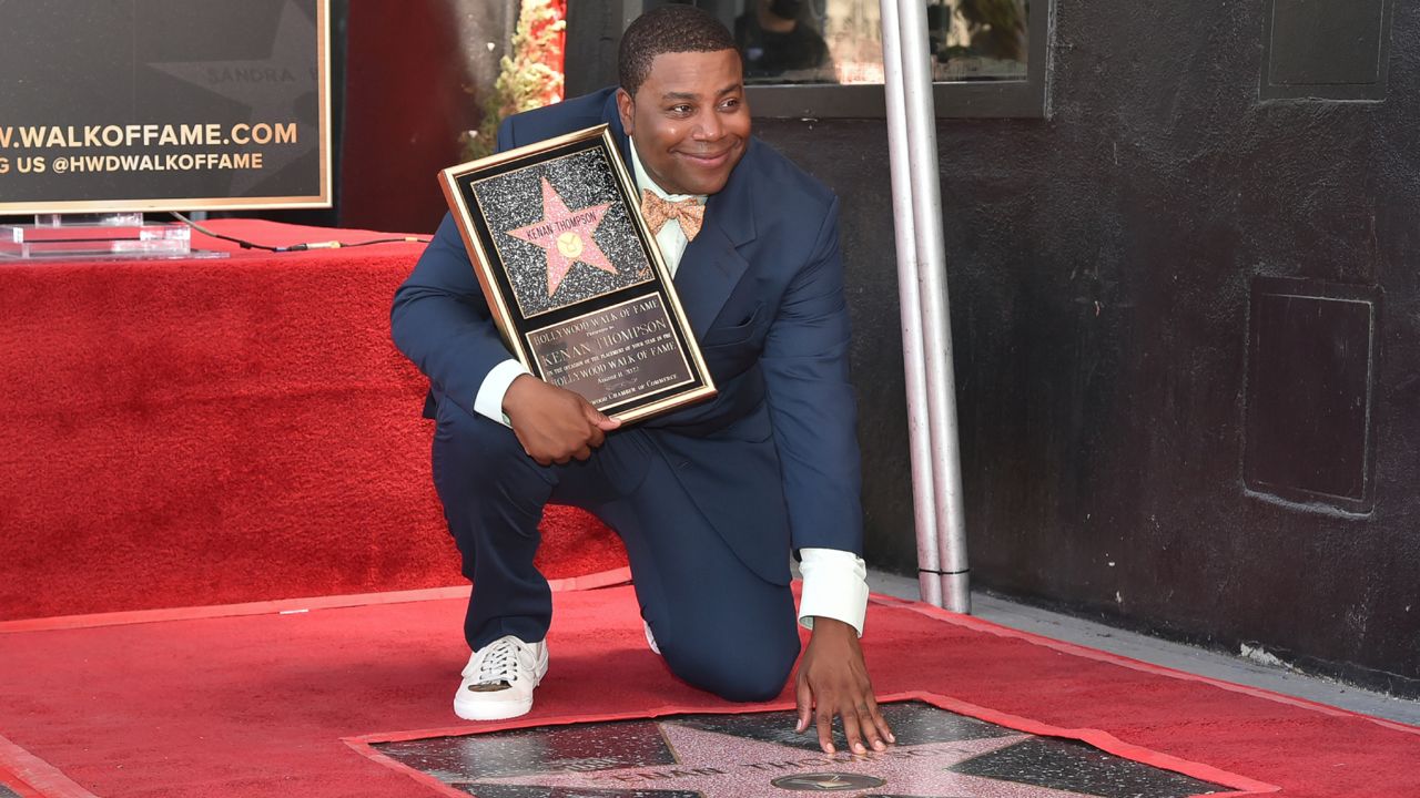
[[606,433],[621,426],[581,395],[527,373],[508,385],[503,413],[523,450],[540,466],[562,464],[572,457],[586,460],[606,440]]

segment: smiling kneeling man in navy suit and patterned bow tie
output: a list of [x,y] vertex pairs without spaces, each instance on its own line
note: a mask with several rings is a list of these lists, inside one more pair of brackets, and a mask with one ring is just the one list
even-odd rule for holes
[[[430,378],[433,474],[473,596],[454,711],[528,711],[552,605],[532,567],[548,501],[622,537],[652,649],[680,679],[768,700],[799,653],[799,730],[832,751],[892,731],[858,636],[866,605],[838,202],[750,138],[730,33],[690,6],[626,30],[621,87],[507,119],[500,149],[609,124],[719,395],[633,427],[510,359],[459,231],[444,219],[395,295],[395,342]],[[669,204],[682,200],[683,204]],[[586,266],[574,266],[588,268]]]

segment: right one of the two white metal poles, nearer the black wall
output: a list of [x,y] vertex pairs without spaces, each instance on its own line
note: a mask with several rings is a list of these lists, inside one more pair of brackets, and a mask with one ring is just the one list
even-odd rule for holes
[[932,479],[944,606],[971,612],[967,581],[961,453],[957,447],[957,392],[951,373],[951,322],[947,305],[947,250],[941,231],[937,119],[932,104],[927,9],[920,0],[897,6],[907,148],[913,155],[912,200],[919,258],[922,338],[927,365],[927,419]]

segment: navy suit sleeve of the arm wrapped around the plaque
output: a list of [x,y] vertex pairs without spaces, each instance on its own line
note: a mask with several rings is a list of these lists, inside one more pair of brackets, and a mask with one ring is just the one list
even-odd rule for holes
[[[498,128],[498,151],[514,141],[510,118]],[[470,415],[483,379],[510,356],[459,226],[447,213],[413,273],[395,291],[389,321],[395,346],[429,378],[435,393]]]

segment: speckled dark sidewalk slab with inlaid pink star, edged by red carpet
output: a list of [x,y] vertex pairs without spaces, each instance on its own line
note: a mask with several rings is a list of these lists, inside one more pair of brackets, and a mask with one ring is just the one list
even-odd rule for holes
[[[479,798],[1184,798],[1230,792],[923,701],[883,706],[897,744],[853,754],[795,734],[794,713],[680,716],[379,744],[395,761]],[[842,733],[838,733],[842,745]]]

